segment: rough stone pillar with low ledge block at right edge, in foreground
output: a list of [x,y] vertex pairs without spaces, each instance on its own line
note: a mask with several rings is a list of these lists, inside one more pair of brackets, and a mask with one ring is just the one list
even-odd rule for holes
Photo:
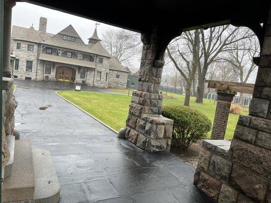
[[271,202],[271,8],[249,112],[232,142],[202,143],[194,184],[216,202]]

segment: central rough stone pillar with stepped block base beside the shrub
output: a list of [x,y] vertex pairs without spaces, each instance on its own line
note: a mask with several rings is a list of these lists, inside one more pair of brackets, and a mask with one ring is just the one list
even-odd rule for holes
[[141,35],[143,50],[137,90],[133,92],[126,122],[125,138],[148,152],[169,151],[173,121],[161,115],[159,94],[164,61],[157,60],[159,36]]

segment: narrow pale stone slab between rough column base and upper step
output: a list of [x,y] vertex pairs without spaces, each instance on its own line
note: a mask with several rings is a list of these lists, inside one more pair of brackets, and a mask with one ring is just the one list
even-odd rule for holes
[[15,146],[15,136],[6,136],[8,148],[10,151],[10,159],[5,165],[5,178],[11,176],[12,166],[14,161],[14,146]]

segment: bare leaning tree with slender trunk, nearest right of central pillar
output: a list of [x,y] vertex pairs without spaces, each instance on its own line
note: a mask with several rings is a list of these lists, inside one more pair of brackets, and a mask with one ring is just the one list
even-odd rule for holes
[[[189,39],[181,46],[183,50],[179,49],[179,43],[184,42],[184,40],[182,40],[183,38],[180,37],[174,40],[173,43],[171,43],[171,46],[167,47],[167,54],[176,69],[186,81],[186,96],[184,105],[189,106],[192,82],[200,59],[199,30],[194,30],[193,32],[187,31],[184,32],[183,35]],[[189,51],[187,51],[187,49]],[[182,58],[182,60],[180,60],[180,58]]]

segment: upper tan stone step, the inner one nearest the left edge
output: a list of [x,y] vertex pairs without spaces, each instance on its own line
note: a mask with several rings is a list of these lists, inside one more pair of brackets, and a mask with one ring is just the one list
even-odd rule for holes
[[31,142],[15,140],[12,174],[4,180],[2,202],[34,199],[35,178]]

